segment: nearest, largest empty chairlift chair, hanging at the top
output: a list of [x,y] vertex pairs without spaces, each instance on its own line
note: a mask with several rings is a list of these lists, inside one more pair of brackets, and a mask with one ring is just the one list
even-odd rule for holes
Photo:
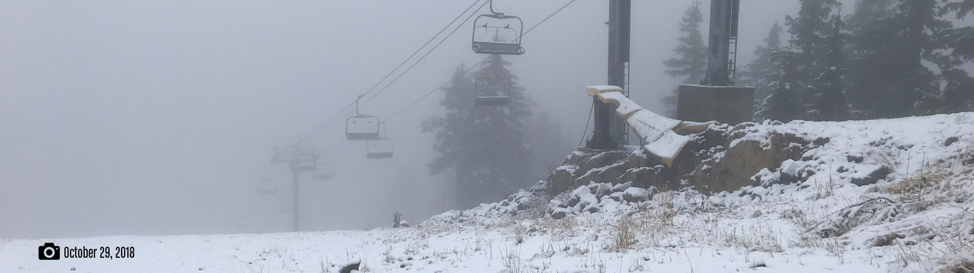
[[[520,17],[505,16],[494,12],[494,1],[491,1],[491,15],[481,15],[473,20],[473,52],[484,54],[520,55],[521,36],[524,35],[524,21]],[[479,28],[484,29],[484,35],[477,35]],[[488,30],[494,29],[495,36],[486,37]],[[495,39],[502,38],[502,39]],[[507,38],[507,39],[504,39]],[[508,42],[509,41],[509,42]]]

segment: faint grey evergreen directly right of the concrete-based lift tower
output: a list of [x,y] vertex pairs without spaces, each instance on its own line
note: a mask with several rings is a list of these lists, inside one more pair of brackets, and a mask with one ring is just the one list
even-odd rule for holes
[[781,50],[781,33],[783,32],[781,25],[775,21],[771,30],[768,31],[768,38],[765,38],[765,46],[759,46],[754,51],[755,60],[745,65],[744,71],[740,73],[741,83],[754,86],[755,106],[760,106],[761,102],[771,93],[768,85],[771,84],[772,80],[768,76],[780,72],[773,53]]

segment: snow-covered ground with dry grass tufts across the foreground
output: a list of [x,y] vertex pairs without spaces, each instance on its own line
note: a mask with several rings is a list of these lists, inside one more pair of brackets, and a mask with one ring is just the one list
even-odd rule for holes
[[[974,114],[737,130],[741,141],[829,141],[735,192],[593,183],[534,208],[518,208],[522,191],[407,228],[7,239],[0,272],[338,272],[358,259],[368,272],[974,271]],[[867,184],[880,168],[891,174]],[[46,242],[134,257],[39,260]]]

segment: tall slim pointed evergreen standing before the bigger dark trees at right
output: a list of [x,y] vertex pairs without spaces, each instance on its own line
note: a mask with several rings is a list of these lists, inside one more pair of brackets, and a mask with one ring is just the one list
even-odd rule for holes
[[843,53],[846,35],[841,16],[832,17],[832,31],[826,36],[825,71],[815,79],[815,95],[809,118],[812,120],[848,119],[843,77],[848,74]]

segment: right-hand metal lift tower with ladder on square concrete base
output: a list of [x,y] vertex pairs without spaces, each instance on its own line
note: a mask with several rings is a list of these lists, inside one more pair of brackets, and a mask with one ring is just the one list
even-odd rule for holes
[[734,85],[740,0],[710,1],[707,75],[700,85],[680,85],[677,119],[737,124],[754,117],[754,86]]

